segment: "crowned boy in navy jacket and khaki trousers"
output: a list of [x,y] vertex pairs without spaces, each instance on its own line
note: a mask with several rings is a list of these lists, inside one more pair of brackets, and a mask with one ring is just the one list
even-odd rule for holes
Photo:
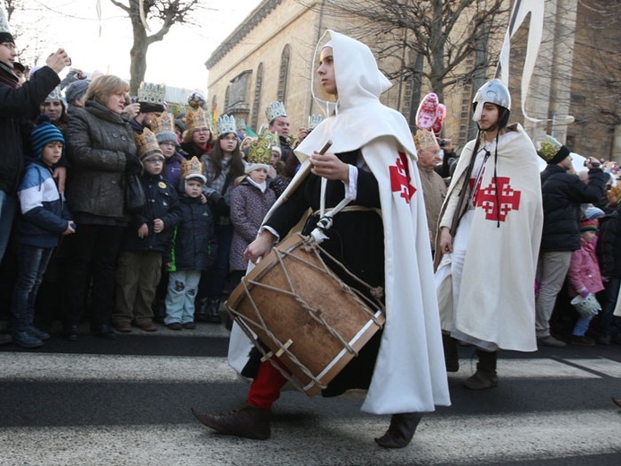
[[140,183],[145,203],[132,215],[118,256],[117,302],[112,325],[131,332],[132,322],[145,332],[155,332],[151,305],[163,263],[170,263],[171,240],[179,222],[179,198],[161,173],[164,156],[155,135],[144,128],[135,134],[138,157],[144,165]]

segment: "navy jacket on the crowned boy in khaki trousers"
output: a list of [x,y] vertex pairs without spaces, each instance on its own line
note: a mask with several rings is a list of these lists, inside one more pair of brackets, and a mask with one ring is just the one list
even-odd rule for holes
[[[139,213],[132,216],[129,227],[125,230],[121,250],[153,251],[162,253],[162,262],[171,262],[172,236],[181,218],[181,208],[177,190],[160,175],[153,177],[144,174],[140,178],[144,189],[146,205]],[[153,233],[153,220],[162,219],[164,230]],[[138,229],[146,223],[149,228],[147,237],[138,237]]]

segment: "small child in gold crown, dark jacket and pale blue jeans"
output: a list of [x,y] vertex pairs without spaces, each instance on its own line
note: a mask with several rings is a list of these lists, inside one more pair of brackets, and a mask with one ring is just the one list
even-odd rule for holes
[[194,299],[201,272],[215,257],[214,217],[201,199],[206,177],[197,157],[184,161],[180,196],[181,220],[172,247],[171,274],[166,296],[164,324],[171,330],[194,329]]

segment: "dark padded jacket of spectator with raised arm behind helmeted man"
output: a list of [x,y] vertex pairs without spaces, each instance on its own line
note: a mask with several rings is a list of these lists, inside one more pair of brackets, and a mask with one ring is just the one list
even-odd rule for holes
[[580,204],[595,203],[604,194],[608,175],[589,170],[589,184],[564,168],[548,164],[541,172],[544,225],[541,251],[577,251],[580,243]]

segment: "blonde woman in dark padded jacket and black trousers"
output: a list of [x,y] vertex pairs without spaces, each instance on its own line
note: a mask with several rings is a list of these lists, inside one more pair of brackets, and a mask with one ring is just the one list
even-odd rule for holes
[[77,339],[89,273],[92,273],[93,333],[114,340],[110,313],[114,309],[118,248],[129,217],[124,208],[126,175],[139,175],[142,164],[127,116],[123,116],[129,84],[117,76],[95,78],[84,108],[69,119],[66,142],[73,176],[67,186],[75,234],[67,245],[65,334]]

